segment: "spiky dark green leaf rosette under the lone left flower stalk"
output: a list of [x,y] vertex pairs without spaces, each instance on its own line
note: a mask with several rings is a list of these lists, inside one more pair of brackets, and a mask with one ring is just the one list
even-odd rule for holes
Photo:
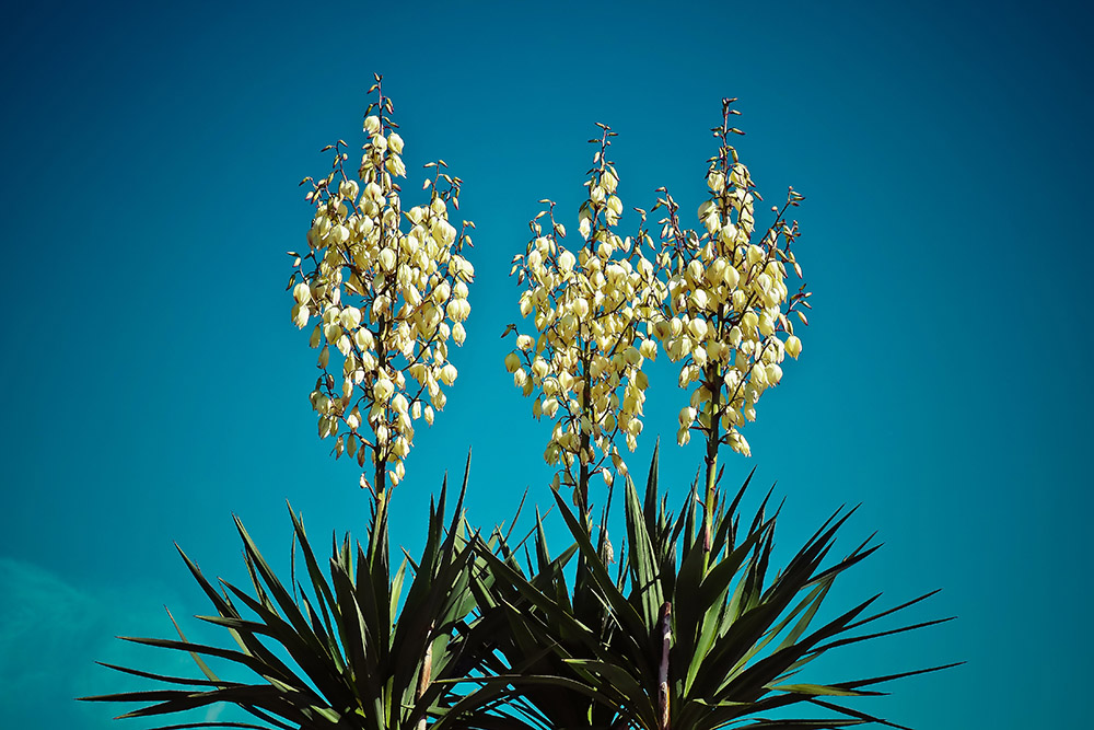
[[[277,578],[236,519],[253,590],[221,581],[222,591],[218,591],[184,553],[183,559],[217,610],[216,615],[199,618],[226,628],[238,648],[189,641],[177,623],[178,639],[124,637],[136,644],[187,652],[202,676],[167,676],[107,664],[176,686],[83,699],[143,705],[121,717],[183,712],[229,703],[267,723],[183,722],[162,728],[424,728],[430,715],[440,714],[455,702],[454,685],[437,680],[454,676],[459,652],[468,646],[466,641],[451,644],[454,634],[466,630],[465,622],[475,605],[469,589],[472,536],[461,513],[466,485],[465,472],[459,499],[445,529],[445,482],[437,503],[430,502],[421,558],[417,563],[404,560],[394,577],[382,505],[373,511],[368,546],[358,544],[354,549],[349,536],[340,545],[335,544],[326,575],[303,522],[292,514],[306,579],[298,582],[294,557],[291,587]],[[400,605],[408,563],[414,576]],[[310,591],[305,591],[305,583]],[[281,652],[295,665],[282,661],[278,656]],[[207,658],[226,661],[236,670],[249,670],[257,681],[222,679],[206,662]],[[440,729],[455,718],[450,715],[435,727]]]

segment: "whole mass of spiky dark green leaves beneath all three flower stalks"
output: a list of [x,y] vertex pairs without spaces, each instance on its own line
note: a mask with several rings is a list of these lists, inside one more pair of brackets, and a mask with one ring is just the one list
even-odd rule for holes
[[[165,728],[423,730],[427,722],[434,730],[901,727],[842,703],[883,694],[871,688],[883,682],[943,668],[825,684],[803,682],[796,674],[829,649],[947,621],[860,630],[932,593],[871,614],[874,596],[819,622],[836,578],[876,549],[866,541],[829,559],[836,533],[851,512],[833,514],[771,576],[778,510],[768,515],[770,494],[745,523],[738,507],[750,475],[729,505],[718,503],[712,549],[705,553],[695,488],[674,517],[659,491],[656,462],[654,451],[643,497],[626,483],[626,544],[615,576],[606,531],[594,540],[561,495],[555,500],[573,544],[552,557],[538,512],[533,533],[517,544],[511,531],[496,531],[489,541],[468,534],[461,514],[463,491],[445,529],[442,487],[438,505],[430,505],[422,557],[409,564],[414,578],[401,607],[408,566],[404,561],[392,577],[384,500],[376,503],[366,548],[352,549],[348,537],[335,545],[328,575],[293,514],[309,591],[298,583],[295,569],[292,590],[283,587],[236,520],[253,590],[222,581],[219,592],[183,558],[217,609],[217,615],[200,618],[226,628],[238,649],[194,644],[182,630],[179,640],[127,639],[186,651],[203,677],[113,667],[174,686],[86,699],[142,705],[123,717],[226,702],[268,723]],[[466,472],[463,486],[466,490]],[[607,501],[602,524],[610,494]],[[275,653],[271,646],[282,651]],[[288,654],[294,667],[278,654]],[[203,660],[208,657],[249,670],[260,681],[222,680]],[[795,705],[810,717],[765,718]]]

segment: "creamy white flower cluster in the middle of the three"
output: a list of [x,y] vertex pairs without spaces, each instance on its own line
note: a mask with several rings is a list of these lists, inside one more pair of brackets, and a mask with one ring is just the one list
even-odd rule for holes
[[580,487],[574,502],[583,510],[590,475],[601,473],[610,483],[614,472],[626,473],[616,437],[622,434],[633,451],[642,431],[649,384],[642,367],[656,357],[657,346],[639,325],[660,311],[665,297],[654,263],[641,251],[644,231],[637,239],[616,232],[622,215],[619,178],[605,158],[614,132],[601,127],[601,149],[579,211],[581,247],[574,253],[560,243],[566,230],[555,221],[555,204],[543,200],[548,208],[529,223],[526,253],[513,259],[511,274],[527,285],[521,314],[533,316],[539,334],[517,333],[516,348],[505,358],[524,395],[538,391],[533,415],[554,420],[544,459],[561,463],[560,480]]

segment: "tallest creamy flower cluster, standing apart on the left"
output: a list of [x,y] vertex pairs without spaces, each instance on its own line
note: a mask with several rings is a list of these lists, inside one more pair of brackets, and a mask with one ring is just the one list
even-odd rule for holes
[[[396,183],[406,177],[404,142],[380,76],[373,92],[380,99],[365,112],[358,174],[347,175],[339,140],[324,148],[335,150],[331,172],[304,179],[315,215],[309,253],[290,252],[289,287],[296,326],[318,320],[311,346],[319,349],[322,374],[311,402],[319,437],[335,437],[335,455],[356,456],[362,466],[371,455],[382,494],[404,477],[414,421],[432,424],[444,408],[443,386],[456,380],[449,343],[464,343],[475,271],[461,255],[474,224],[456,230],[449,221],[450,207],[459,207],[459,178],[442,172],[443,161],[426,165],[433,171],[423,186],[432,188],[430,200],[404,210]],[[365,476],[361,483],[372,487]]]

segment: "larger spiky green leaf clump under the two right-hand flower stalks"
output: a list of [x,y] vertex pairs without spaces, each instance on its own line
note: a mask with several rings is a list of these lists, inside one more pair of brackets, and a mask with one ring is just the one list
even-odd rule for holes
[[[510,719],[517,726],[790,730],[873,721],[901,727],[840,703],[883,694],[869,687],[943,667],[824,684],[794,677],[830,649],[948,621],[859,630],[933,593],[866,615],[874,596],[814,626],[836,578],[877,548],[868,541],[825,567],[836,533],[853,510],[833,514],[770,578],[778,515],[777,510],[766,514],[770,494],[746,529],[737,509],[750,475],[729,506],[722,501],[711,521],[708,554],[695,487],[674,518],[659,496],[656,461],[655,451],[644,501],[629,479],[626,485],[625,575],[608,573],[603,533],[595,545],[557,494],[583,577],[573,595],[563,590],[565,559],[546,559],[542,533],[534,575],[521,570],[504,545],[497,555],[484,554],[492,586],[479,587],[486,594],[479,600],[508,624],[499,649],[512,671],[484,679],[481,692],[517,696],[514,708],[521,711]],[[583,602],[596,607],[578,609]],[[811,712],[823,708],[828,717],[764,717],[790,705]]]

